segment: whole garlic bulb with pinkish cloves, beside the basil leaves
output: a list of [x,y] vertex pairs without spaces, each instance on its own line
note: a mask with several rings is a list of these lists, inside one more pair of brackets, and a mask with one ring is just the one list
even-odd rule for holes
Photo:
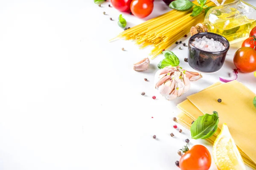
[[186,71],[180,66],[167,66],[155,74],[155,88],[168,100],[176,99],[190,88],[190,81],[201,79],[197,72]]

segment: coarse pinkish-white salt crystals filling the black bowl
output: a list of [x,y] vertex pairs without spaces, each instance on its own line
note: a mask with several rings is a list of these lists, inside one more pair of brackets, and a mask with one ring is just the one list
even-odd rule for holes
[[206,36],[202,38],[195,38],[192,45],[204,51],[218,52],[224,50],[226,47],[219,41],[208,39]]

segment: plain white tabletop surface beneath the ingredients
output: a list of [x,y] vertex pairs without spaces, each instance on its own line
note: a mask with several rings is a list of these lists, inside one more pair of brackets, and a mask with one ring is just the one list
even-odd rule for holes
[[[148,18],[169,10],[155,1]],[[255,0],[247,2],[256,5]],[[235,49],[220,71],[203,74],[187,94],[167,101],[153,84],[163,56],[151,61],[148,71],[133,71],[133,63],[147,57],[150,49],[139,50],[128,41],[108,42],[122,31],[117,26],[121,13],[108,4],[0,1],[0,170],[178,170],[177,150],[190,133],[180,125],[183,133],[172,127],[176,105],[226,76],[234,68]],[[143,22],[124,17],[130,27]],[[192,71],[183,61],[186,49],[178,46],[172,51]],[[256,93],[253,74],[239,73],[238,80]],[[145,96],[140,95],[143,91]],[[201,140],[190,144],[211,150]]]

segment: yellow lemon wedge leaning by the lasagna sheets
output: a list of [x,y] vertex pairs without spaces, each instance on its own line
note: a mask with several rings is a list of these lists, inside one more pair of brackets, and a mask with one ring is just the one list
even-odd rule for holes
[[212,155],[218,170],[245,170],[244,161],[225,123],[213,144]]

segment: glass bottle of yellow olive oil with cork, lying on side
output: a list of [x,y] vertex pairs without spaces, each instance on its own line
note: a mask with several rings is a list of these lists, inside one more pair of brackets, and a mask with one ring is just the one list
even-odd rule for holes
[[204,19],[192,27],[190,33],[213,32],[227,38],[230,44],[248,38],[256,26],[256,8],[243,0],[211,8]]

